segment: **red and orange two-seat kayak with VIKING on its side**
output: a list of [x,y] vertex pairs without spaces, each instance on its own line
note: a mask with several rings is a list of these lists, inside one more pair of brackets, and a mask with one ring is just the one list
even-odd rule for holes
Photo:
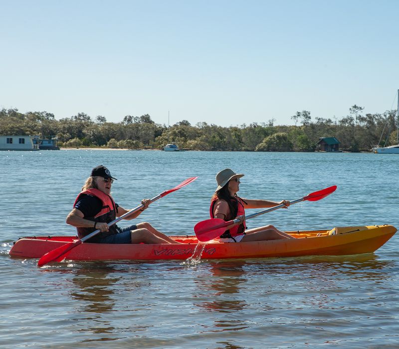
[[[187,259],[195,253],[201,259],[297,257],[310,255],[349,255],[371,253],[384,245],[397,231],[392,225],[335,227],[330,230],[288,231],[295,239],[223,243],[200,243],[196,236],[171,236],[182,244],[97,244],[82,243],[67,260],[166,260]],[[13,257],[40,258],[76,236],[20,238],[9,254]],[[196,249],[197,248],[197,249]]]

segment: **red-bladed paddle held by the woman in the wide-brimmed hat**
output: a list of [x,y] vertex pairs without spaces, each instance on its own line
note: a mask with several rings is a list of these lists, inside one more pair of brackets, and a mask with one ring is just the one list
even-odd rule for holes
[[[301,197],[300,199],[290,201],[290,205],[292,205],[293,203],[297,203],[297,202],[301,202],[301,201],[305,201],[305,200],[309,200],[309,201],[321,200],[323,197],[326,197],[327,195],[329,195],[333,191],[335,191],[335,189],[337,189],[337,185],[329,186],[328,188],[312,192],[309,195]],[[286,206],[282,203],[281,205],[267,208],[263,211],[259,211],[257,213],[253,213],[248,216],[245,216],[245,220],[259,216],[260,214],[263,214],[263,213],[274,211],[281,207],[286,207]],[[203,220],[203,221],[197,223],[194,227],[194,231],[195,231],[199,241],[209,241],[209,240],[212,240],[212,239],[220,236],[226,230],[230,229],[234,225],[239,224],[240,222],[241,221],[237,218],[229,220],[227,222],[220,218],[211,218],[211,219],[206,219],[206,220]]]

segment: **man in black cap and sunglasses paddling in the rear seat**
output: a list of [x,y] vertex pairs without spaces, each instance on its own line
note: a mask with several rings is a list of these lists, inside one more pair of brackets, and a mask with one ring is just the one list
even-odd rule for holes
[[[100,229],[101,232],[87,242],[178,244],[179,242],[159,232],[147,222],[131,225],[124,229],[119,228],[116,224],[108,226],[107,223],[128,212],[116,204],[110,194],[114,179],[117,180],[103,165],[95,167],[91,171],[91,176],[86,179],[72,211],[66,217],[66,223],[76,227],[79,238]],[[137,218],[148,207],[150,200],[144,199],[141,203],[144,207],[125,219]]]

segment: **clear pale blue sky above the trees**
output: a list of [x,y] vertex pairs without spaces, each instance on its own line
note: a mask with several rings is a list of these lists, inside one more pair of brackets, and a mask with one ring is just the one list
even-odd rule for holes
[[0,0],[0,108],[226,127],[384,113],[398,16],[398,0]]

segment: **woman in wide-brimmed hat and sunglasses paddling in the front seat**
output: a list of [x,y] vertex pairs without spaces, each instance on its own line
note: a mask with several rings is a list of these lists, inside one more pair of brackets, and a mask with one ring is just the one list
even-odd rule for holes
[[[236,174],[230,169],[224,169],[216,174],[217,188],[210,201],[210,217],[221,218],[225,221],[239,218],[241,224],[226,230],[221,236],[221,242],[248,242],[262,240],[294,239],[291,235],[278,230],[273,225],[245,230],[245,208],[264,208],[290,202],[282,200],[274,202],[269,200],[248,200],[237,195],[239,183],[243,174]],[[287,208],[285,207],[285,208]]]

